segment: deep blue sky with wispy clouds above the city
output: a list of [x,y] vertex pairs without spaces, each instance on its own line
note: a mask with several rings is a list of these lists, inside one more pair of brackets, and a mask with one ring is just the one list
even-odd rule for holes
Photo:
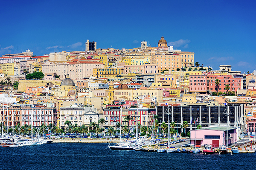
[[255,9],[253,0],[1,1],[0,55],[81,51],[87,39],[97,48],[155,46],[163,36],[201,65],[253,71]]

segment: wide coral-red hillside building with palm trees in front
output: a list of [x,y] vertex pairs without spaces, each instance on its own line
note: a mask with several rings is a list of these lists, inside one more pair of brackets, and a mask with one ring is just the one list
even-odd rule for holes
[[[220,84],[218,85],[218,87],[215,84],[216,79],[220,80]],[[237,91],[237,90],[243,89],[243,82],[241,78],[233,78],[231,75],[225,75],[225,76],[224,75],[216,76],[211,74],[207,75],[208,91],[227,92],[225,90],[225,85],[229,85],[231,91]]]

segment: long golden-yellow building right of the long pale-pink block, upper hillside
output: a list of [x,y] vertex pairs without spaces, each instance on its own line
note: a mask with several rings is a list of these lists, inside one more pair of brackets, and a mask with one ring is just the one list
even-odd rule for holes
[[123,73],[123,68],[93,68],[93,77],[97,78],[116,77]]

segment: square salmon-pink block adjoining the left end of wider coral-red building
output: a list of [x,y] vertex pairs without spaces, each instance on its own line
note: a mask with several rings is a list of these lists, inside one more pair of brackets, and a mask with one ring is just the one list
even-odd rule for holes
[[190,92],[199,92],[199,94],[206,94],[207,91],[207,75],[190,75],[189,76]]

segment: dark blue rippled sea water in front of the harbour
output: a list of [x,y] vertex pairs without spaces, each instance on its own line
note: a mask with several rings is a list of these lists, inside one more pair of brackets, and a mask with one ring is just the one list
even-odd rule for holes
[[108,144],[0,147],[1,170],[248,170],[256,153],[218,155],[110,150]]

